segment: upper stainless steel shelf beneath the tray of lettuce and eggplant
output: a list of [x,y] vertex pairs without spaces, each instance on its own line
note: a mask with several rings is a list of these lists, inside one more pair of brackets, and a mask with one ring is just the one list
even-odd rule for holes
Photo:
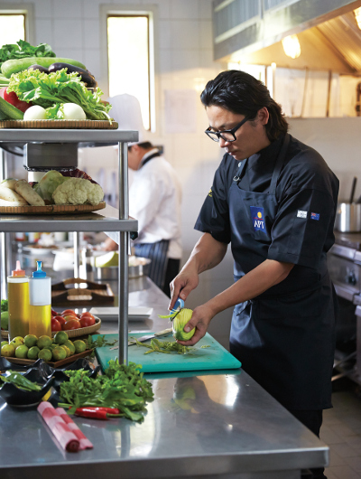
[[129,143],[138,141],[136,130],[0,128],[0,143]]

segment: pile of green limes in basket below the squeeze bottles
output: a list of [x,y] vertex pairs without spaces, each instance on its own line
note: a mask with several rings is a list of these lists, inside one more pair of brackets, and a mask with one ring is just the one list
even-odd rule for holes
[[24,338],[16,336],[10,343],[1,343],[1,355],[7,358],[43,359],[45,362],[62,361],[73,354],[84,352],[87,344],[78,339],[74,342],[69,340],[68,333],[59,331],[51,339],[50,336],[36,337],[28,334]]

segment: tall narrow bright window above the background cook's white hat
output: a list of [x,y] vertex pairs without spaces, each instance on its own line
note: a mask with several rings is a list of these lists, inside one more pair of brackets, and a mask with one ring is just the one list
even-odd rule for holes
[[106,18],[109,96],[134,95],[147,130],[153,129],[151,32],[149,14],[109,14]]

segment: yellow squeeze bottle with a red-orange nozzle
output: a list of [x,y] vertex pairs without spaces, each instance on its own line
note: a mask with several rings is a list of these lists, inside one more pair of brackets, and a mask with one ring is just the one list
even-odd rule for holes
[[29,277],[16,261],[16,269],[7,277],[10,341],[29,333]]

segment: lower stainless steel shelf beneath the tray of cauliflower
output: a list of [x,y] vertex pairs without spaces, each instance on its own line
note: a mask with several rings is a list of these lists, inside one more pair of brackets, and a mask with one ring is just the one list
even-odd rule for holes
[[1,215],[0,231],[137,231],[138,221],[106,218],[98,213],[73,215]]

